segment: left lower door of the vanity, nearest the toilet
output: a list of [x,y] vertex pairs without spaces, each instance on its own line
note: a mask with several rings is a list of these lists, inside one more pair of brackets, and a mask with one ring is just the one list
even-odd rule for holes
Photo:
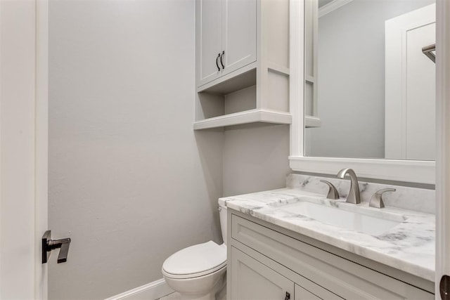
[[235,247],[231,247],[231,297],[233,300],[294,299],[294,282]]

